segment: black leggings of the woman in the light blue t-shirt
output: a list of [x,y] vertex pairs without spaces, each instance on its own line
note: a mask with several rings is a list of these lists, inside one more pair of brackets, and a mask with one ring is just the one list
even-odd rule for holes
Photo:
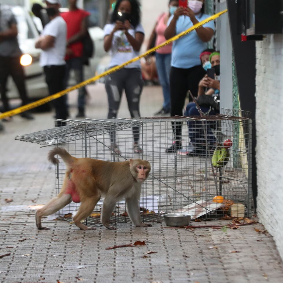
[[[205,70],[201,65],[189,69],[171,67],[170,72],[170,96],[171,96],[171,116],[183,116],[183,107],[187,91],[190,90],[193,96],[198,95],[198,83],[205,75]],[[192,98],[189,96],[189,101]],[[182,122],[172,122],[174,140],[181,143]]]

